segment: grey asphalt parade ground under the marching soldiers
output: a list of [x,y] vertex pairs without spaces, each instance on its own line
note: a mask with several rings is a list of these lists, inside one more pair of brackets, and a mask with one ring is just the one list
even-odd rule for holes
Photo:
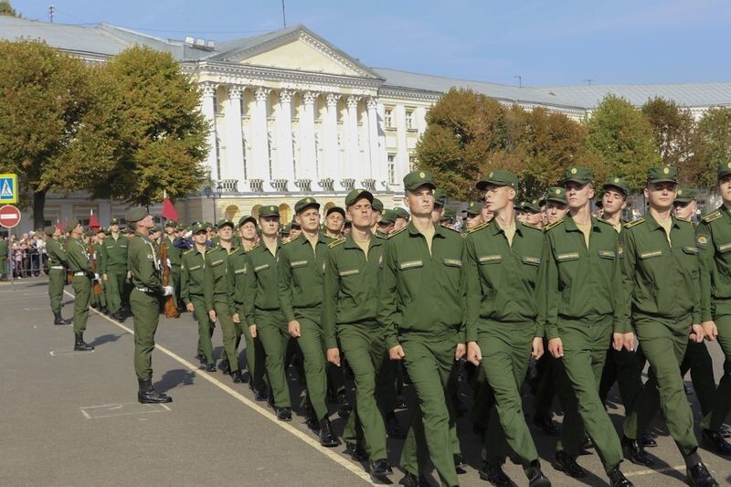
[[[66,287],[63,316],[72,315],[73,294]],[[266,402],[256,402],[247,384],[234,384],[220,372],[198,368],[197,327],[191,313],[160,318],[153,354],[154,386],[173,397],[166,405],[137,402],[132,366],[132,317],[117,323],[91,311],[87,343],[93,352],[73,352],[70,326],[56,326],[48,305],[45,279],[0,283],[0,485],[267,485],[348,486],[373,480],[365,463],[352,461],[344,444],[319,445],[304,425],[304,411],[293,399],[291,423],[277,421]],[[219,353],[220,330],[214,333]],[[717,344],[708,344],[716,381],[723,365]],[[691,385],[686,377],[687,384]],[[301,387],[294,384],[295,393]],[[469,392],[463,387],[465,402]],[[407,386],[409,407],[415,398]],[[694,395],[696,419],[700,412]],[[531,397],[525,401],[532,417]],[[335,432],[344,419],[331,405]],[[408,410],[397,416],[406,429]],[[620,430],[623,410],[616,389],[609,415]],[[460,475],[465,486],[480,480],[481,440],[471,431],[469,414],[461,418],[461,450],[469,466]],[[556,421],[560,423],[560,414]],[[683,459],[660,415],[651,429],[659,446],[652,469],[622,463],[635,485],[683,485]],[[588,450],[579,464],[588,471],[575,480],[551,466],[556,439],[531,425],[546,476],[554,485],[607,485],[598,455]],[[700,438],[700,431],[698,437]],[[398,464],[403,440],[388,439],[389,460]],[[731,484],[731,461],[702,447],[701,456],[720,484]],[[402,472],[395,467],[391,481]],[[505,472],[526,485],[522,469],[508,461]],[[432,472],[432,485],[438,485]]]

